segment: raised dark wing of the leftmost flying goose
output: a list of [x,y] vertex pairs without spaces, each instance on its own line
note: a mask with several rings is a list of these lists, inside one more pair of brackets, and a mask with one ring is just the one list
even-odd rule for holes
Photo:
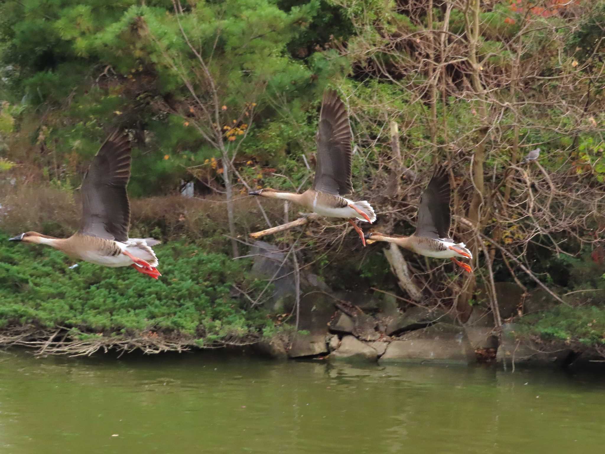
[[80,233],[108,240],[128,240],[130,142],[120,130],[105,140],[82,182]]

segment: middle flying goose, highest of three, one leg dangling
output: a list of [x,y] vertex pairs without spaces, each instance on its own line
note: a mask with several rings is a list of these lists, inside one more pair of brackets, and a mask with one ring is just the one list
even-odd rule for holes
[[264,188],[249,192],[250,196],[284,199],[298,203],[325,217],[348,219],[365,246],[364,232],[353,222],[373,223],[374,209],[366,200],[347,199],[353,193],[351,183],[351,126],[347,108],[334,90],[324,92],[315,136],[317,163],[313,186],[302,194]]

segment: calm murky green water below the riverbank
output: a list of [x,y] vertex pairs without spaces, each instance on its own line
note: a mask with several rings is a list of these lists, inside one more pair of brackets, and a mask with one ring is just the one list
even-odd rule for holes
[[604,446],[605,380],[597,375],[0,352],[0,453],[554,454]]

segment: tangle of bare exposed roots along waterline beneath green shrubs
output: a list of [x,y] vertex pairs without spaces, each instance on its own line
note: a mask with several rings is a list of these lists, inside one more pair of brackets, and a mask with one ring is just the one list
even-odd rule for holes
[[258,342],[256,337],[227,337],[212,344],[200,346],[191,335],[163,335],[155,331],[139,335],[74,334],[67,327],[41,329],[26,325],[4,329],[0,332],[0,347],[22,346],[34,349],[35,355],[90,356],[110,350],[121,355],[140,350],[144,354],[184,352],[192,348],[217,349],[226,346],[244,346]]

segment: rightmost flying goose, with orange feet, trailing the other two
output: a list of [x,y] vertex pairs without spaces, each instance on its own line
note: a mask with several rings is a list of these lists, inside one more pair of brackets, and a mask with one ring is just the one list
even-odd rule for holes
[[456,260],[456,257],[473,259],[471,251],[464,243],[455,243],[450,238],[450,178],[445,167],[437,166],[427,188],[420,197],[416,232],[409,237],[387,235],[379,232],[365,234],[365,239],[395,243],[416,254],[435,258],[450,258],[466,272],[471,267]]

